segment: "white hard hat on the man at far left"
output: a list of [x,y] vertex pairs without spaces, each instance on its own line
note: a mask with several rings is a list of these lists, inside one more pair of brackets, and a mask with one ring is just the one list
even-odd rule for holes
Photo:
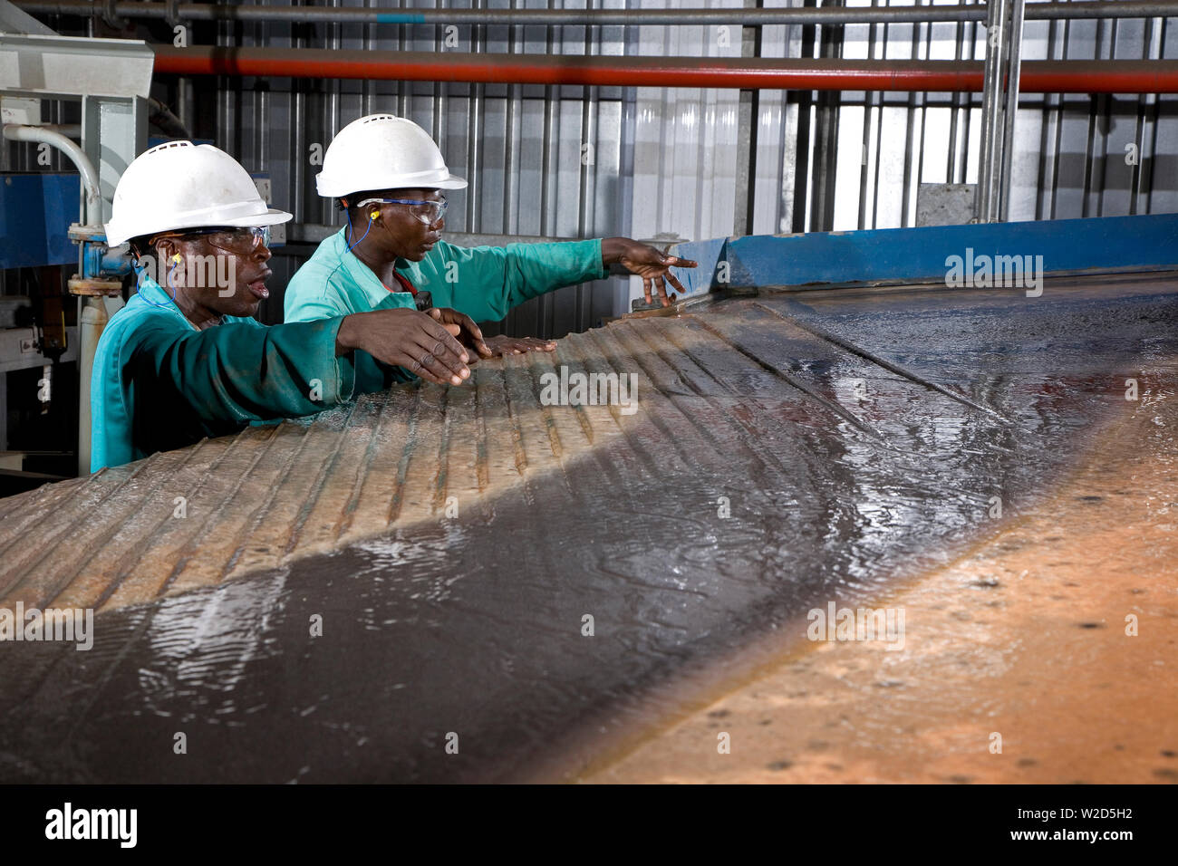
[[267,207],[250,172],[212,145],[168,141],[144,151],[114,189],[106,243],[214,225],[264,226],[291,219]]

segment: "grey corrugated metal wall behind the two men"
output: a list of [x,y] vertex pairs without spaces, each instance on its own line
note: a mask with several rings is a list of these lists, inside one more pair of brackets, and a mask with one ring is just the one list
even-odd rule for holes
[[[494,8],[767,7],[815,0],[337,0],[337,6]],[[935,0],[954,5],[958,0]],[[967,0],[968,1],[968,0]],[[286,4],[266,4],[271,6]],[[298,5],[298,4],[296,4]],[[319,4],[322,5],[322,4]],[[830,2],[822,5],[829,6]],[[847,0],[846,6],[931,5]],[[78,19],[51,16],[70,33]],[[1028,21],[1024,59],[1178,58],[1178,19]],[[151,29],[146,29],[147,27]],[[171,29],[140,24],[157,41]],[[192,44],[549,54],[981,59],[979,24],[508,27],[197,22]],[[77,32],[73,31],[73,32]],[[448,44],[449,37],[449,44]],[[297,224],[337,224],[315,193],[315,146],[389,111],[442,145],[470,187],[450,194],[456,232],[701,239],[915,224],[925,183],[977,180],[980,94],[192,79],[167,99],[198,134],[269,172]],[[1178,98],[1025,94],[1014,144],[1012,219],[1178,211]],[[750,147],[754,140],[755,146]],[[830,144],[827,144],[827,143]],[[1136,153],[1126,147],[1133,145]],[[15,145],[13,145],[15,147]],[[1136,159],[1134,159],[1136,157]],[[1134,164],[1136,163],[1136,164]],[[294,229],[299,232],[298,227]],[[294,245],[276,257],[277,285]],[[563,335],[622,312],[641,293],[614,278],[530,302],[508,330]],[[278,320],[270,302],[266,320]]]

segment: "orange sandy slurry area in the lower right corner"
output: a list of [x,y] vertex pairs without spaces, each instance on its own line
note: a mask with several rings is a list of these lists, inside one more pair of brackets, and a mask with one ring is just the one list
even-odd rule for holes
[[581,781],[1178,781],[1176,403],[1134,405],[1041,505],[874,601],[904,609],[902,650],[803,641]]

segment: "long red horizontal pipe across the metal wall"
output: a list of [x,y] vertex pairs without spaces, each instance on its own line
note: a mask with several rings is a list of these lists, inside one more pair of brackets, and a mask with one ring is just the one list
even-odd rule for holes
[[[152,46],[155,71],[392,81],[477,81],[801,91],[980,92],[982,64],[957,60],[618,58],[552,54]],[[1178,60],[1027,60],[1027,93],[1178,93]]]

